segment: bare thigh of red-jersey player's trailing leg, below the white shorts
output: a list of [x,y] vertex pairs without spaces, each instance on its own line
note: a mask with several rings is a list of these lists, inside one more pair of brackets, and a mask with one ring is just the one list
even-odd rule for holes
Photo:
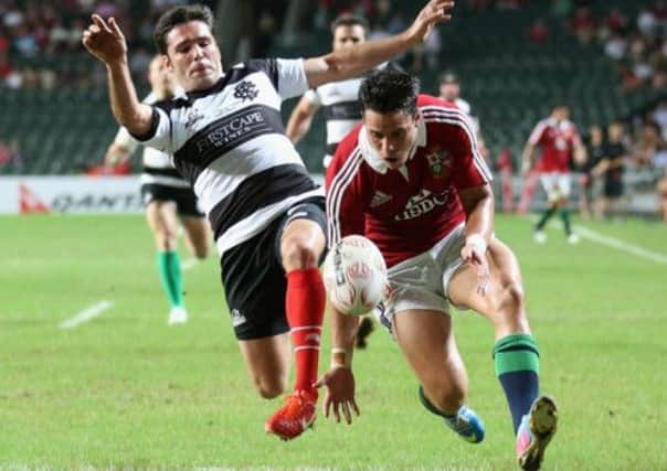
[[406,310],[393,319],[394,335],[405,358],[427,388],[457,385],[467,377],[449,314],[436,310]]

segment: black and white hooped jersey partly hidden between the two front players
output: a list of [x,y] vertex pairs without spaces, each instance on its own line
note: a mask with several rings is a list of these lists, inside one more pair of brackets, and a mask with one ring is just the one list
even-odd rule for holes
[[[378,68],[398,68],[385,62]],[[338,143],[361,121],[359,87],[366,75],[347,81],[330,82],[306,92],[306,98],[322,107],[327,128],[327,154],[334,156]]]

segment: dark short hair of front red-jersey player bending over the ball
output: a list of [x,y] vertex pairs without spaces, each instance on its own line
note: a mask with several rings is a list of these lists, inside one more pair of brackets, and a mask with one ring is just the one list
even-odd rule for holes
[[419,78],[402,71],[384,68],[373,72],[361,83],[359,100],[362,111],[414,115],[419,94]]

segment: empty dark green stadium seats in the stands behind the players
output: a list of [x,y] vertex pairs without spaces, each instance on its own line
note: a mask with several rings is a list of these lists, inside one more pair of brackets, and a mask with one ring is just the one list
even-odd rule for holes
[[[404,18],[414,15],[419,4],[394,1]],[[594,14],[618,7],[635,18],[643,1],[590,2]],[[532,44],[527,39],[530,24],[541,18],[549,40]],[[606,125],[627,118],[659,98],[658,92],[621,90],[614,63],[600,45],[580,45],[567,31],[564,20],[553,17],[544,2],[533,1],[519,10],[469,10],[459,2],[455,19],[441,29],[443,51],[441,67],[420,73],[423,89],[437,94],[437,75],[444,68],[456,71],[463,96],[473,105],[481,131],[495,158],[509,148],[515,161],[523,142],[539,119],[549,115],[555,100],[572,108],[580,129]],[[328,35],[306,33],[289,45],[277,43],[271,55],[295,57],[320,54],[330,46]],[[62,76],[67,71],[92,68],[95,62],[85,52],[12,57],[18,68],[47,67]],[[409,65],[409,64],[407,64]],[[81,75],[81,74],[80,74]],[[664,94],[663,94],[664,96]],[[286,103],[285,121],[296,100]],[[106,89],[91,89],[80,84],[59,84],[53,90],[2,89],[0,141],[18,139],[21,144],[21,169],[7,165],[2,173],[77,173],[102,162],[106,147],[116,131],[108,107]],[[299,143],[308,167],[320,172],[324,156],[324,120],[318,115],[313,130]],[[138,159],[134,161],[138,165]]]

